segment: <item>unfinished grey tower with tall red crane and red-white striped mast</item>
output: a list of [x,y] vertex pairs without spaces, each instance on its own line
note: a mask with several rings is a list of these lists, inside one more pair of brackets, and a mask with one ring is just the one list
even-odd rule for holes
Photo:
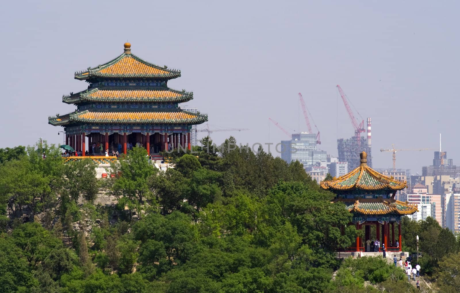
[[[351,124],[355,129],[355,136],[344,139],[337,139],[337,149],[339,151],[339,161],[348,162],[348,170],[356,169],[360,164],[359,154],[365,151],[368,154],[368,166],[372,168],[372,151],[371,151],[371,118],[367,119],[368,127],[364,129],[364,119],[359,122],[355,118],[351,107],[348,104],[348,99],[343,92],[342,88],[337,85],[340,96],[344,102],[345,108],[350,116]],[[359,113],[358,113],[359,115]],[[361,137],[361,133],[367,132],[367,138]]]

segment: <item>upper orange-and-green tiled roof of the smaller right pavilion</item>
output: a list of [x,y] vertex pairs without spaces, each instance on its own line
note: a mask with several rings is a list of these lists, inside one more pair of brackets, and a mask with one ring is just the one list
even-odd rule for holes
[[339,178],[320,182],[323,189],[329,190],[401,190],[406,188],[407,182],[397,181],[392,177],[385,176],[367,165],[367,154],[362,152],[361,165],[355,170],[340,176]]

